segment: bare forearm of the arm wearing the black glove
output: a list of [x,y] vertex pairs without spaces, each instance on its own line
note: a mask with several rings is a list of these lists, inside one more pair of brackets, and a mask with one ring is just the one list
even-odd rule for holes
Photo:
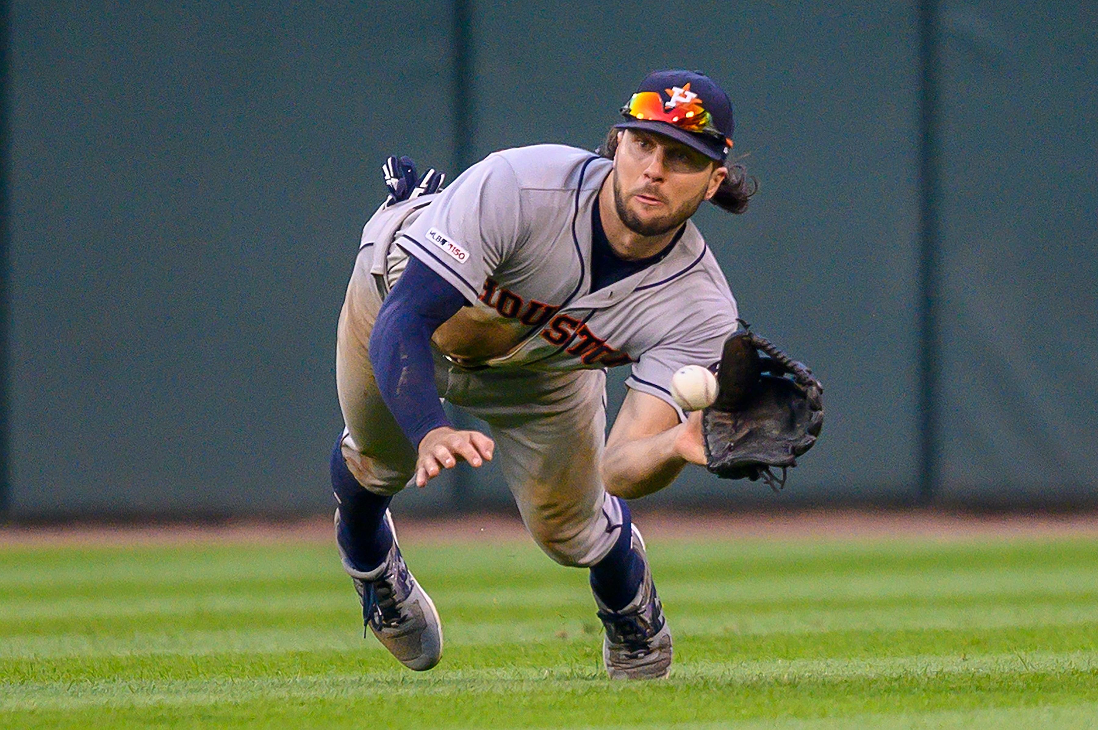
[[641,439],[607,447],[603,454],[603,483],[610,494],[626,499],[659,492],[679,476],[687,461],[677,442],[681,424]]

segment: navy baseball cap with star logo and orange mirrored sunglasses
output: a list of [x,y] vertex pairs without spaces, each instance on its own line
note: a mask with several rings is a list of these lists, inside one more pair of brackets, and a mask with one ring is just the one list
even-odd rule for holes
[[621,108],[618,130],[647,130],[724,162],[732,148],[732,102],[701,71],[652,71]]

